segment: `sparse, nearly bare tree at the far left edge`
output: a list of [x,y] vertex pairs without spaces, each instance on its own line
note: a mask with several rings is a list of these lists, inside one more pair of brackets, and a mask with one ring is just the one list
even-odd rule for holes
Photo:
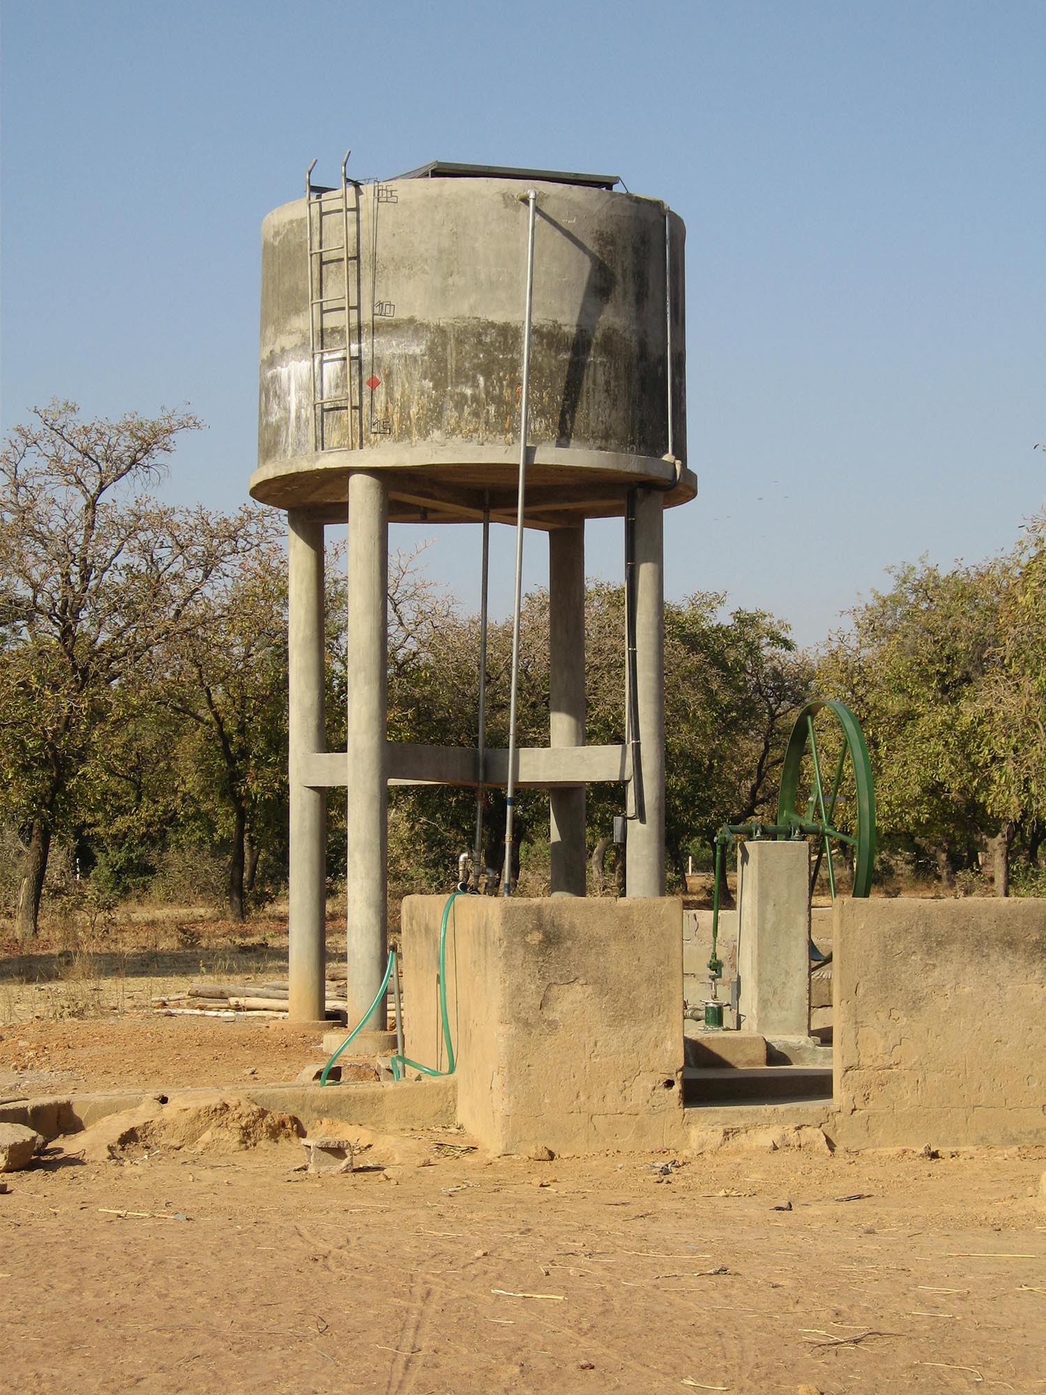
[[24,830],[15,933],[36,933],[52,838],[75,827],[113,695],[191,622],[243,552],[241,519],[174,509],[146,490],[188,412],[82,421],[36,407],[0,449],[0,778]]

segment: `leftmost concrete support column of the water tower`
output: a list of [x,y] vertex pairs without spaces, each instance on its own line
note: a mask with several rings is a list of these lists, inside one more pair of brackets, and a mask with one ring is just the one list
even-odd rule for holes
[[289,1018],[324,1020],[326,960],[326,794],[303,784],[303,757],[324,731],[324,525],[287,513],[287,755],[290,783]]

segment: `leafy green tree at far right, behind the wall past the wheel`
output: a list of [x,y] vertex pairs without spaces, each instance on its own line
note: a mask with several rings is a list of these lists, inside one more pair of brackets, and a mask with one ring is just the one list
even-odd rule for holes
[[[1046,822],[1046,540],[1033,520],[1007,557],[900,568],[833,636],[820,689],[858,713],[887,850],[962,886],[1006,890],[1011,845],[1038,884]],[[986,876],[982,876],[982,872]],[[969,876],[973,876],[973,882]]]

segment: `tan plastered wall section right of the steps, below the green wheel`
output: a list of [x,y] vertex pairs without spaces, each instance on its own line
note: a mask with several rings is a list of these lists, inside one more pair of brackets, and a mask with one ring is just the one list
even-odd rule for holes
[[1046,1140],[1046,901],[835,905],[844,1147]]

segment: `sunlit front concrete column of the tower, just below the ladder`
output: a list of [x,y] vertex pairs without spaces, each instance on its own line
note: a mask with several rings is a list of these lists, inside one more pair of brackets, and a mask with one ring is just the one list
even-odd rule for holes
[[[389,509],[377,473],[349,477],[349,1023],[371,1006],[385,974],[386,611]],[[370,1031],[385,1031],[375,1013]]]

